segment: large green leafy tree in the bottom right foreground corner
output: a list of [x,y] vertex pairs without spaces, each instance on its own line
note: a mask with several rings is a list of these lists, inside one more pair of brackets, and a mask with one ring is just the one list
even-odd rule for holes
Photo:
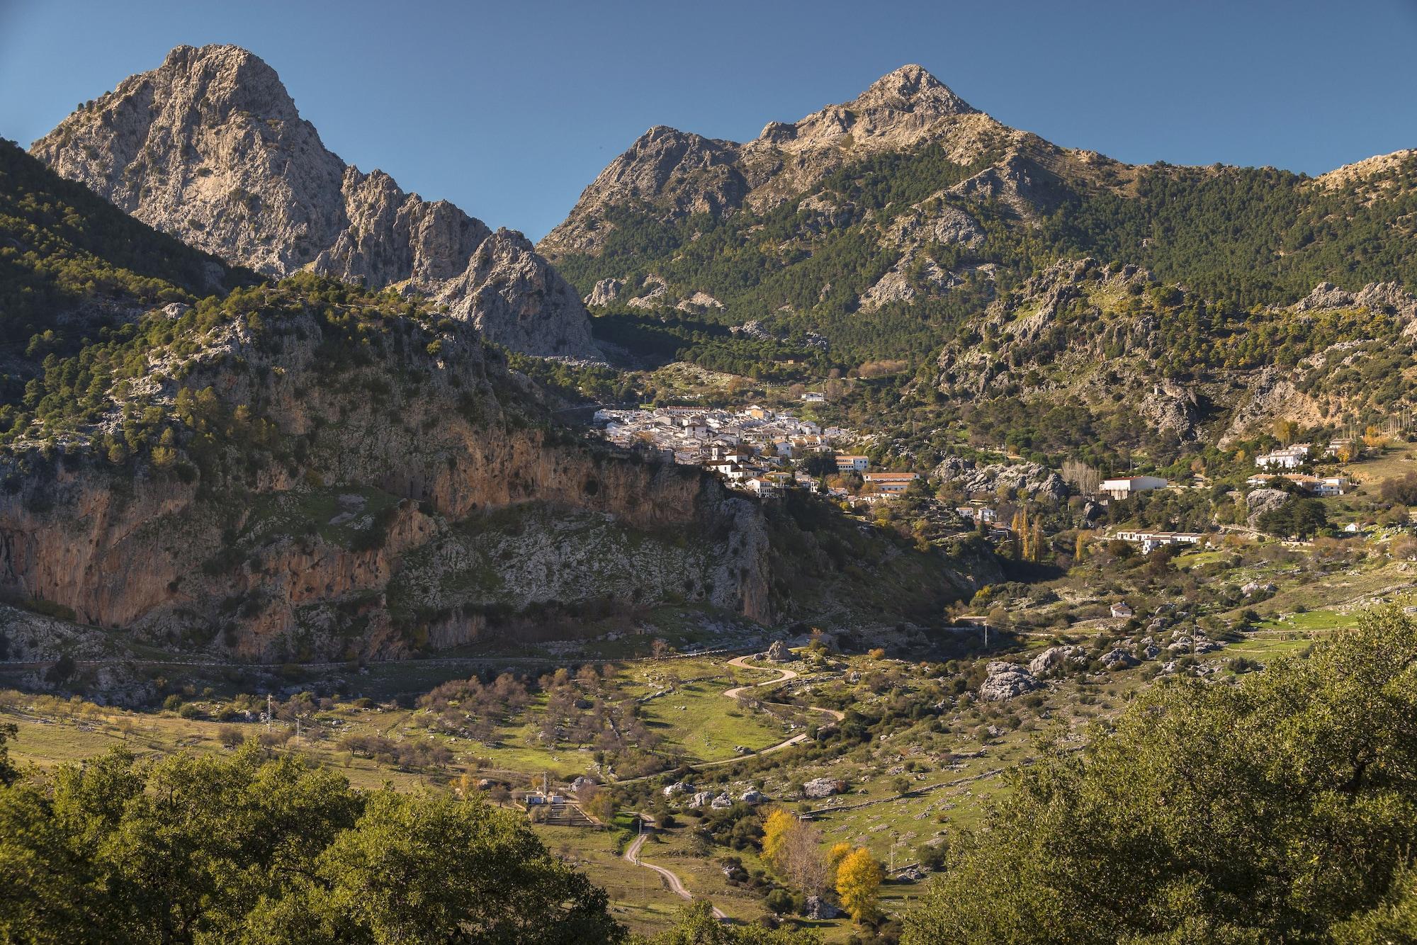
[[[905,942],[1384,941],[1411,915],[1417,623],[1356,632],[1238,684],[1180,679],[1084,752],[1015,776]],[[1386,941],[1399,941],[1386,939]]]

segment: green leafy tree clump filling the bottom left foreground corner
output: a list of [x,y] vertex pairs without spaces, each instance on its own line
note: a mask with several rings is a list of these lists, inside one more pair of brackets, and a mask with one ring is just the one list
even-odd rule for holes
[[605,894],[482,800],[112,752],[0,788],[0,941],[614,942]]

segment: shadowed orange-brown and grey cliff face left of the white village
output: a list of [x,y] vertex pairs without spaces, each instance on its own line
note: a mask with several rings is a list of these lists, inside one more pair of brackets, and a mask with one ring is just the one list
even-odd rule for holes
[[[210,387],[215,405],[191,422],[258,435],[193,482],[78,441],[16,449],[0,473],[4,588],[140,639],[265,659],[451,646],[585,601],[774,618],[755,503],[534,422],[534,392],[470,332],[427,354],[395,326],[385,358],[349,370],[329,367],[326,333],[307,310],[238,317],[196,354],[152,356],[135,397]],[[201,434],[184,436],[196,455]]]

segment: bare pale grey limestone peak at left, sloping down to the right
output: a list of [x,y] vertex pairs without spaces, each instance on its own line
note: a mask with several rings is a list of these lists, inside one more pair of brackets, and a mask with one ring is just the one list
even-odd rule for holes
[[492,341],[599,357],[575,290],[524,237],[346,166],[275,69],[238,47],[177,47],[31,153],[143,222],[265,275],[310,268],[407,286]]

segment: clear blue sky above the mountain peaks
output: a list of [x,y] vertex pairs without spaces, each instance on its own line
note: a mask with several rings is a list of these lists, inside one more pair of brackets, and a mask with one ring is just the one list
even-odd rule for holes
[[183,43],[252,50],[346,162],[533,238],[652,125],[745,140],[905,62],[1127,162],[1321,173],[1417,147],[1417,0],[0,0],[0,136]]

